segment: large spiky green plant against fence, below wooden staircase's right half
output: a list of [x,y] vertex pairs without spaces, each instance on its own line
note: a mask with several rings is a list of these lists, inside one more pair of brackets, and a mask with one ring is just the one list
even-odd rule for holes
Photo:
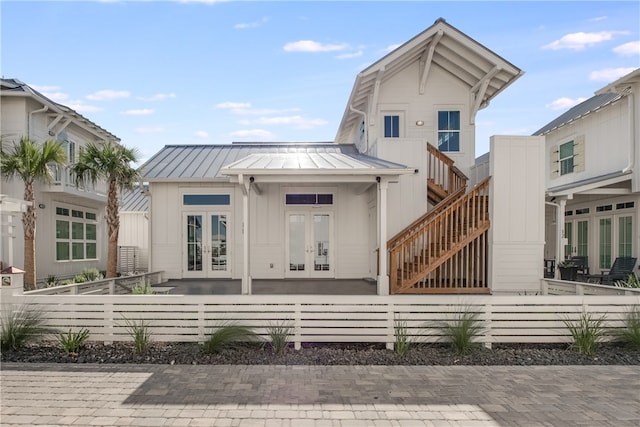
[[480,313],[464,307],[452,319],[442,322],[444,340],[451,344],[456,354],[471,354],[478,347],[477,338],[483,332]]

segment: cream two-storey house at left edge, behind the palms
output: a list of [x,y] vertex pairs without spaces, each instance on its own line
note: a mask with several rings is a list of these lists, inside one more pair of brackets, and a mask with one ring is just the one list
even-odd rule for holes
[[[22,137],[37,142],[54,139],[62,142],[70,164],[88,142],[119,142],[107,130],[19,80],[2,79],[1,84],[0,128],[5,149]],[[18,179],[3,180],[0,194],[22,200],[24,184]],[[68,169],[56,167],[54,181],[50,185],[36,184],[35,203],[36,273],[39,280],[47,275],[72,276],[89,267],[105,268],[107,238],[102,218],[105,215],[106,186],[76,188]],[[9,217],[11,230],[7,225]],[[2,223],[2,261],[6,264],[12,258],[12,263],[20,267],[24,258],[21,214],[3,213]]]

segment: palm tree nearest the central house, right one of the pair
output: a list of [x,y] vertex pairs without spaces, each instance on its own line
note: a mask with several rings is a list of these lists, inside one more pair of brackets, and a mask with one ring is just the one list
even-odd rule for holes
[[118,266],[118,234],[120,232],[118,192],[125,188],[133,188],[139,181],[138,170],[131,166],[138,161],[137,157],[137,150],[114,142],[89,143],[80,150],[78,162],[71,166],[76,186],[83,185],[85,182],[92,184],[102,180],[107,182],[109,249],[106,277],[115,277]]

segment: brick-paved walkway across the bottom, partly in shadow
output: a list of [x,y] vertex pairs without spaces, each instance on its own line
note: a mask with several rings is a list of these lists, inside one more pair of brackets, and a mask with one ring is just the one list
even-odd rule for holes
[[638,426],[640,366],[5,363],[0,425]]

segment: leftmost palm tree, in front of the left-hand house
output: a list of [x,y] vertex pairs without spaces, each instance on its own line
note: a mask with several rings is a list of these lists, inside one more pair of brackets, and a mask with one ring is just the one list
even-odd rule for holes
[[64,165],[67,155],[58,141],[45,141],[43,144],[31,141],[27,137],[5,152],[0,149],[0,171],[6,179],[18,177],[24,183],[24,200],[31,202],[22,213],[24,229],[24,284],[27,289],[36,288],[36,203],[33,184],[36,181],[50,183],[53,174],[50,165]]

